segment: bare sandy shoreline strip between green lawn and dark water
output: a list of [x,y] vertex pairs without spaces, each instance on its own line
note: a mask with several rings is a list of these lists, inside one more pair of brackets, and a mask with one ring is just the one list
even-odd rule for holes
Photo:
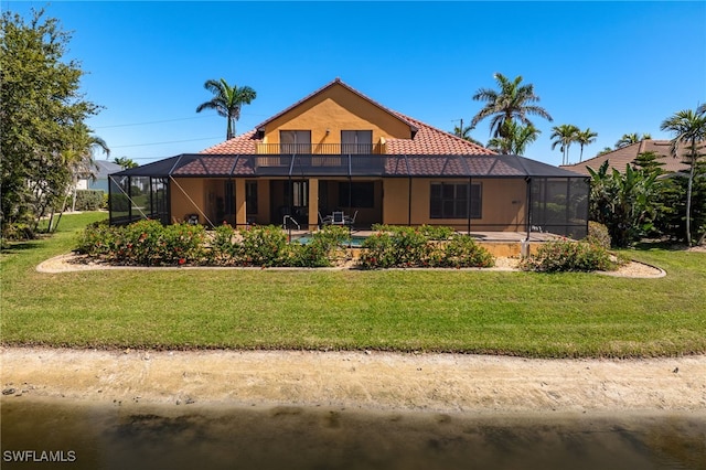
[[706,410],[706,356],[533,360],[303,351],[3,348],[3,400],[446,413]]

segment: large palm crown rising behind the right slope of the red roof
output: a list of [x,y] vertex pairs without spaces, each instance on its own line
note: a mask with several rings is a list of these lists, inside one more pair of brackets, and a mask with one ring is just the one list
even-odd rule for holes
[[531,125],[532,121],[527,118],[527,115],[539,116],[549,121],[553,120],[546,109],[532,104],[537,103],[539,97],[534,93],[534,85],[521,85],[522,76],[517,76],[511,82],[503,74],[496,73],[493,78],[498,82],[500,90],[480,88],[473,95],[474,100],[485,102],[485,105],[471,120],[472,128],[486,117],[492,117],[490,133],[493,137],[505,137],[503,136],[503,124],[505,121],[518,119],[524,125]]

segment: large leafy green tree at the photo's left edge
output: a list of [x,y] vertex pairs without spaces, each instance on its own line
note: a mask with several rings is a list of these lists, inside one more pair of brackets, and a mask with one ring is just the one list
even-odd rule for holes
[[65,61],[71,34],[32,11],[29,22],[1,18],[0,205],[2,223],[39,222],[65,200],[75,167],[90,147],[85,120],[99,107],[79,93],[83,71]]

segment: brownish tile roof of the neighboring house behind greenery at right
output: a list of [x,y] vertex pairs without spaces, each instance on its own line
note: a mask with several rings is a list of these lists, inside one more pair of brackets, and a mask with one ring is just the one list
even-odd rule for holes
[[664,163],[662,170],[666,172],[676,172],[676,171],[687,171],[688,164],[684,163],[681,158],[674,158],[670,154],[670,141],[668,140],[642,140],[640,142],[631,143],[621,149],[613,150],[608,153],[603,153],[592,159],[585,160],[580,163],[575,164],[566,164],[561,168],[566,170],[576,171],[577,173],[581,173],[585,175],[590,175],[588,170],[589,167],[593,171],[598,171],[598,169],[608,161],[608,165],[614,168],[621,173],[625,172],[625,165],[632,164],[634,159],[640,153],[645,152],[654,152],[661,158],[657,160],[661,163]]

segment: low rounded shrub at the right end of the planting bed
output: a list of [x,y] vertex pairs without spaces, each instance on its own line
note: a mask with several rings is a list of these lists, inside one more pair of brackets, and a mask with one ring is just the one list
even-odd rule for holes
[[556,241],[544,243],[537,254],[521,263],[524,270],[539,273],[614,270],[610,253],[587,242]]

